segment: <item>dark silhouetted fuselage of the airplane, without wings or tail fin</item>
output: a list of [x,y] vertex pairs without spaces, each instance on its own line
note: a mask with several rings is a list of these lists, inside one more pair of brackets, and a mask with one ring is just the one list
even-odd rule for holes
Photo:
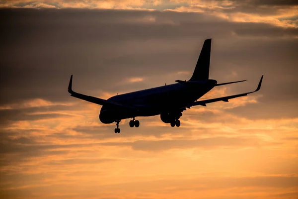
[[102,123],[112,123],[116,120],[137,116],[153,116],[179,110],[198,100],[217,84],[216,80],[197,81],[193,86],[181,83],[145,89],[132,93],[117,95],[108,101],[139,107],[138,110],[119,109],[102,106],[99,119]]

